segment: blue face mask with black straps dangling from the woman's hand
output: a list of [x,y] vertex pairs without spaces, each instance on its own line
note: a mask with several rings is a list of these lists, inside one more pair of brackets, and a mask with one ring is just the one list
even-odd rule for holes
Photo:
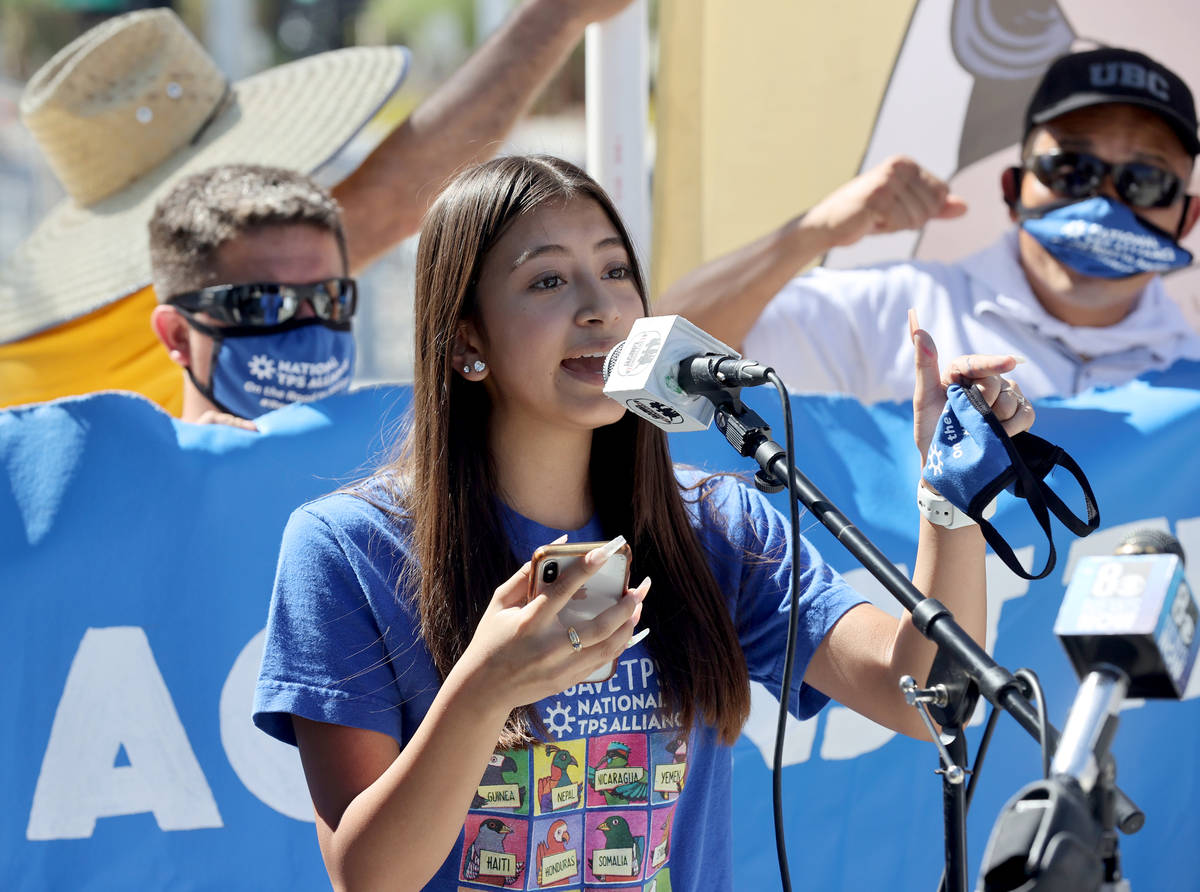
[[[1087,521],[1075,516],[1046,485],[1045,477],[1055,467],[1064,468],[1079,483]],[[1032,433],[1009,437],[974,387],[950,384],[946,389],[946,408],[937,420],[937,432],[929,447],[923,477],[925,483],[979,525],[991,550],[1008,569],[1024,579],[1042,579],[1054,569],[1056,555],[1050,534],[1051,511],[1079,537],[1094,532],[1100,525],[1096,496],[1075,460],[1062,448]],[[1036,575],[1026,573],[1012,546],[984,516],[984,510],[1001,490],[1024,498],[1046,535],[1050,553],[1045,567]]]

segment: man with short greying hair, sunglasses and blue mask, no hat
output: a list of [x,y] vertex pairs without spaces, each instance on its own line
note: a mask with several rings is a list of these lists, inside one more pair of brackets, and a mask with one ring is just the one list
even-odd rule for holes
[[181,180],[150,220],[150,265],[185,421],[256,430],[349,387],[358,286],[341,209],[308,176],[226,164]]

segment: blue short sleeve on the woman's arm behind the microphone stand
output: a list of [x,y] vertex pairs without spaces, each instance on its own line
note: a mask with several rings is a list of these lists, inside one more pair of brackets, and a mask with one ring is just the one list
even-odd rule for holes
[[[734,547],[742,551],[742,579],[736,623],[751,681],[780,695],[786,665],[788,611],[791,610],[792,537],[786,519],[757,490],[738,485],[740,523],[731,526]],[[730,508],[733,507],[730,499]],[[788,708],[809,718],[828,698],[804,683],[804,674],[817,647],[834,624],[864,598],[827,564],[817,550],[799,538],[799,627]]]

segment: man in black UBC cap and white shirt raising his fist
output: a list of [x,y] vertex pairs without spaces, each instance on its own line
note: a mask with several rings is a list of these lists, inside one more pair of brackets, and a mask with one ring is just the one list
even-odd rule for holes
[[912,390],[910,307],[948,353],[1028,359],[1012,373],[1027,397],[1121,384],[1200,359],[1160,276],[1192,262],[1178,240],[1200,214],[1187,193],[1198,152],[1192,92],[1169,68],[1128,49],[1072,53],[1030,100],[1001,184],[1014,226],[997,243],[956,263],[797,276],[833,247],[965,212],[898,157],[685,276],[655,311],[739,345],[797,390],[863,402]]

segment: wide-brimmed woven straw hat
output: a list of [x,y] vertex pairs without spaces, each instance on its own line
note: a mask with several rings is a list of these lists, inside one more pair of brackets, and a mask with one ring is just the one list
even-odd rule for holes
[[70,198],[0,267],[0,343],[149,285],[146,223],[180,178],[229,162],[312,173],[407,70],[401,47],[356,47],[230,84],[164,8],[70,43],[22,95],[22,119]]

